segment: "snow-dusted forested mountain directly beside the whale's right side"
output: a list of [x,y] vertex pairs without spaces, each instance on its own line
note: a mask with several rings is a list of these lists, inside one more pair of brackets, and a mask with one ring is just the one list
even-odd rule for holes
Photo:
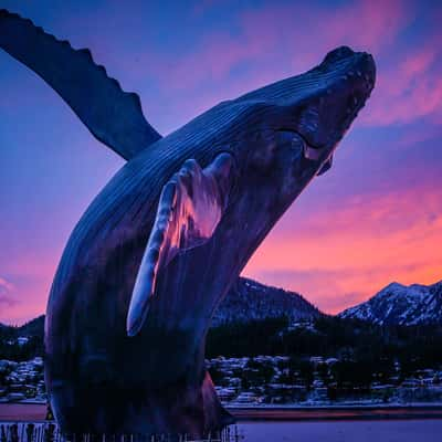
[[296,322],[320,315],[314,305],[297,293],[240,277],[217,309],[212,326],[281,316]]

